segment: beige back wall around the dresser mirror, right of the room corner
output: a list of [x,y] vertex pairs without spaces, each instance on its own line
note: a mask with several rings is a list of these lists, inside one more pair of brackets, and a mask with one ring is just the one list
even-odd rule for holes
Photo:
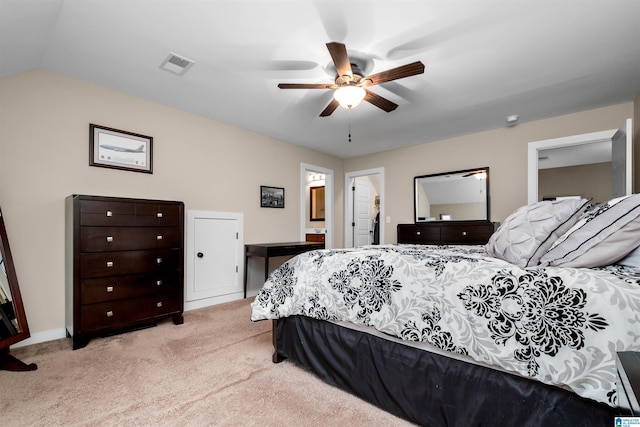
[[516,208],[527,204],[529,142],[617,129],[632,116],[633,103],[619,104],[346,159],[344,171],[385,169],[385,216],[389,219],[385,242],[394,243],[397,225],[413,222],[414,176],[488,166],[491,219],[502,222]]

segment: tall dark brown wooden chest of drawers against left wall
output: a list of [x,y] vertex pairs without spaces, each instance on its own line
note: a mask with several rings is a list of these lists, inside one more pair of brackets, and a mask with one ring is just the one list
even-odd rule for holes
[[66,199],[66,329],[91,337],[183,322],[184,204],[72,195]]

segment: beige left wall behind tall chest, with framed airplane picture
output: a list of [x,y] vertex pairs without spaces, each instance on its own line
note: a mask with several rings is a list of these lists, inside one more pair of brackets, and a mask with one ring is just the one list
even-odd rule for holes
[[[153,136],[153,174],[89,166],[89,123]],[[301,163],[343,175],[335,157],[59,74],[0,80],[0,206],[32,334],[64,327],[66,196],[181,200],[242,212],[246,243],[297,241]],[[260,208],[260,185],[284,187],[285,209]]]

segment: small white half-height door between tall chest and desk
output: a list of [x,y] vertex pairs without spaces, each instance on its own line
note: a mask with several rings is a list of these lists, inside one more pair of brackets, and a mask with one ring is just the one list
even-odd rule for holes
[[242,292],[239,240],[241,221],[234,218],[193,218],[192,280],[186,300]]

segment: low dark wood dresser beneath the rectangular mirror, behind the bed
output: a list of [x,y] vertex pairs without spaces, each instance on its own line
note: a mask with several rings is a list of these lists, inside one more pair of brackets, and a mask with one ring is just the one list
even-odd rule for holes
[[495,231],[489,221],[429,221],[398,224],[398,243],[483,245]]

